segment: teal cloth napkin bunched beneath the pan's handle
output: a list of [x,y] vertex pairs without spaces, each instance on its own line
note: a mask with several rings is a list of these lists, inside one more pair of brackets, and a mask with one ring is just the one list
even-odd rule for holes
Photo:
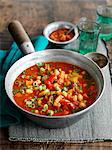
[[[35,51],[44,50],[48,45],[48,40],[44,36],[32,39]],[[10,50],[0,50],[0,127],[19,124],[22,121],[22,114],[10,102],[4,86],[5,75],[16,60],[20,59],[23,53],[14,42]]]

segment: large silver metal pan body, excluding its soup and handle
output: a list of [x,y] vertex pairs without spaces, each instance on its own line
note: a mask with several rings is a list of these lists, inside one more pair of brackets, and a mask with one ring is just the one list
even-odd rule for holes
[[[27,110],[24,110],[23,108],[18,106],[13,98],[12,92],[14,81],[16,80],[18,75],[20,75],[21,72],[23,72],[26,68],[29,68],[30,66],[33,66],[39,62],[49,62],[49,61],[55,62],[61,61],[71,63],[81,68],[84,68],[86,71],[88,71],[97,83],[98,95],[95,102],[84,110],[65,116],[38,115],[32,112],[28,112]],[[28,54],[27,56],[24,56],[23,58],[15,62],[6,75],[5,89],[7,95],[9,96],[10,100],[14,103],[14,105],[23,114],[25,114],[26,117],[36,122],[39,126],[46,128],[62,128],[79,121],[101,99],[101,96],[104,91],[104,77],[100,68],[87,57],[72,51],[66,51],[63,49],[51,49]]]

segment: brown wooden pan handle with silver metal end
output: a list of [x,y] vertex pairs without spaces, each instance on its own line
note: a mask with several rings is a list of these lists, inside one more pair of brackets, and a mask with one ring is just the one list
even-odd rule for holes
[[10,22],[8,25],[8,30],[12,35],[14,41],[24,54],[30,54],[35,52],[35,49],[28,34],[25,32],[22,24],[19,21],[14,20]]

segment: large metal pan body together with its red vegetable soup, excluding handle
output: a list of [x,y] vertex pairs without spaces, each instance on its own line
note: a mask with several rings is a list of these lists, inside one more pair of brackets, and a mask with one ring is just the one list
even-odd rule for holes
[[11,101],[30,120],[47,128],[79,121],[101,99],[104,78],[85,56],[63,49],[28,54],[5,79]]

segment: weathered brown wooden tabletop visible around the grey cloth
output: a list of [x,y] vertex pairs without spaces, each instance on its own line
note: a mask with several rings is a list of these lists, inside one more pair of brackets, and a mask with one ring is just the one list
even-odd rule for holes
[[[53,21],[77,23],[81,17],[95,19],[96,7],[112,4],[112,0],[0,0],[0,48],[8,49],[12,38],[7,24],[18,19],[31,37],[40,35],[43,28]],[[109,41],[112,61],[112,41]],[[112,67],[112,66],[111,66]],[[8,128],[0,129],[0,150],[111,150],[112,142],[96,143],[22,143],[8,140]]]

